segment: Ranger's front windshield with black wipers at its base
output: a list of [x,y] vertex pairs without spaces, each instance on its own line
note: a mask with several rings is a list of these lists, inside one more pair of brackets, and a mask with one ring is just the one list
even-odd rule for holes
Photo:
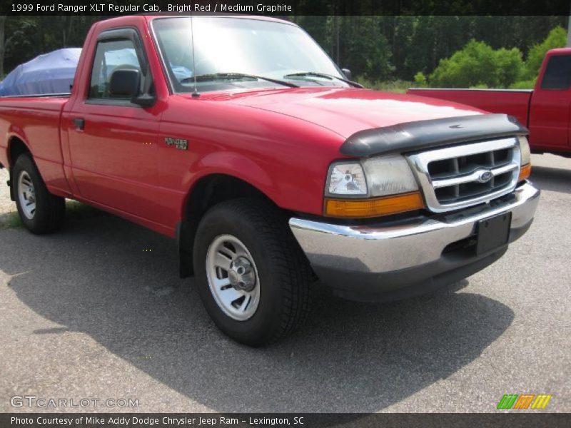
[[152,27],[175,92],[194,91],[195,74],[199,92],[285,88],[276,81],[296,86],[348,86],[338,80],[345,76],[335,63],[298,26],[221,16],[194,16],[191,21],[183,16],[154,19]]

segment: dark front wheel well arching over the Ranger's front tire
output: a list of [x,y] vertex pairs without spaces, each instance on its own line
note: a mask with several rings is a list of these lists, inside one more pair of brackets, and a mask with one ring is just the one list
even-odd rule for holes
[[193,274],[192,247],[198,223],[203,215],[213,205],[236,198],[261,198],[271,202],[261,190],[231,175],[207,175],[193,186],[186,200],[183,221],[178,228],[181,277]]

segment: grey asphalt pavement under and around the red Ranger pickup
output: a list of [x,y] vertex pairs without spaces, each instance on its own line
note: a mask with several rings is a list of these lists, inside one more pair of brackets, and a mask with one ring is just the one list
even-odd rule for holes
[[138,399],[69,411],[496,412],[508,393],[571,412],[571,160],[533,162],[535,223],[497,263],[383,305],[319,287],[308,323],[264,349],[216,330],[167,238],[111,215],[43,237],[4,228],[0,412],[66,410],[11,407],[25,394]]

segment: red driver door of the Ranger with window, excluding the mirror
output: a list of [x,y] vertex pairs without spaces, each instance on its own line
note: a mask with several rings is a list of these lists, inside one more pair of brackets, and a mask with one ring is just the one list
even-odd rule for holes
[[[89,90],[69,113],[71,168],[81,197],[148,220],[161,220],[157,203],[156,106],[143,108],[111,96],[116,68],[136,68],[141,86],[152,78],[138,31],[113,29],[99,36]],[[147,82],[148,83],[148,82]]]

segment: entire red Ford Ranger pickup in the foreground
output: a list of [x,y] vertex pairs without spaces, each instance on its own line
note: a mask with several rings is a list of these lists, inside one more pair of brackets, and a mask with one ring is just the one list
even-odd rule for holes
[[472,275],[540,195],[514,118],[361,88],[260,16],[101,21],[71,94],[0,99],[0,135],[26,228],[57,230],[71,198],[176,238],[181,275],[248,345],[300,325],[318,278],[374,301]]

